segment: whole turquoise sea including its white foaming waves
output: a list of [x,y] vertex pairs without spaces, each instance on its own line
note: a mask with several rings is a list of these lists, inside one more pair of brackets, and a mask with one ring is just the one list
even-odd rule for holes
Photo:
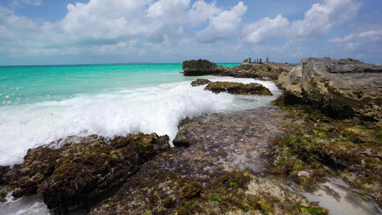
[[[0,67],[0,165],[22,163],[29,148],[69,135],[156,132],[173,139],[186,116],[266,106],[282,94],[270,81],[180,72],[181,64],[150,63]],[[197,78],[257,82],[274,96],[215,94],[191,87]]]

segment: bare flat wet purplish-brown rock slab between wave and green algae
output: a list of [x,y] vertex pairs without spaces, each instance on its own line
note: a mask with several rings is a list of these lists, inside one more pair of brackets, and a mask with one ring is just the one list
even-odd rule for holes
[[173,144],[203,151],[226,169],[262,171],[267,166],[267,146],[287,120],[278,108],[209,115],[186,124]]

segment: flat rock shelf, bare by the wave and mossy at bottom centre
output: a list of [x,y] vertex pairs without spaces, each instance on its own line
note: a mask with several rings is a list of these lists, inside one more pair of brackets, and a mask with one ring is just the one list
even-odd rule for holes
[[327,214],[256,173],[266,166],[267,144],[285,121],[278,108],[194,119],[174,140],[188,147],[171,148],[146,163],[89,214]]

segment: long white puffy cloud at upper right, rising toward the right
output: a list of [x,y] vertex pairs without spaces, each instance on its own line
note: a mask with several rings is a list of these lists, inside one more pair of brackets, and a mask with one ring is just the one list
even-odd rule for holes
[[243,41],[262,43],[270,37],[316,39],[334,26],[352,20],[360,7],[361,3],[354,0],[324,0],[323,4],[313,4],[303,20],[290,22],[279,14],[274,19],[266,17],[244,26]]

